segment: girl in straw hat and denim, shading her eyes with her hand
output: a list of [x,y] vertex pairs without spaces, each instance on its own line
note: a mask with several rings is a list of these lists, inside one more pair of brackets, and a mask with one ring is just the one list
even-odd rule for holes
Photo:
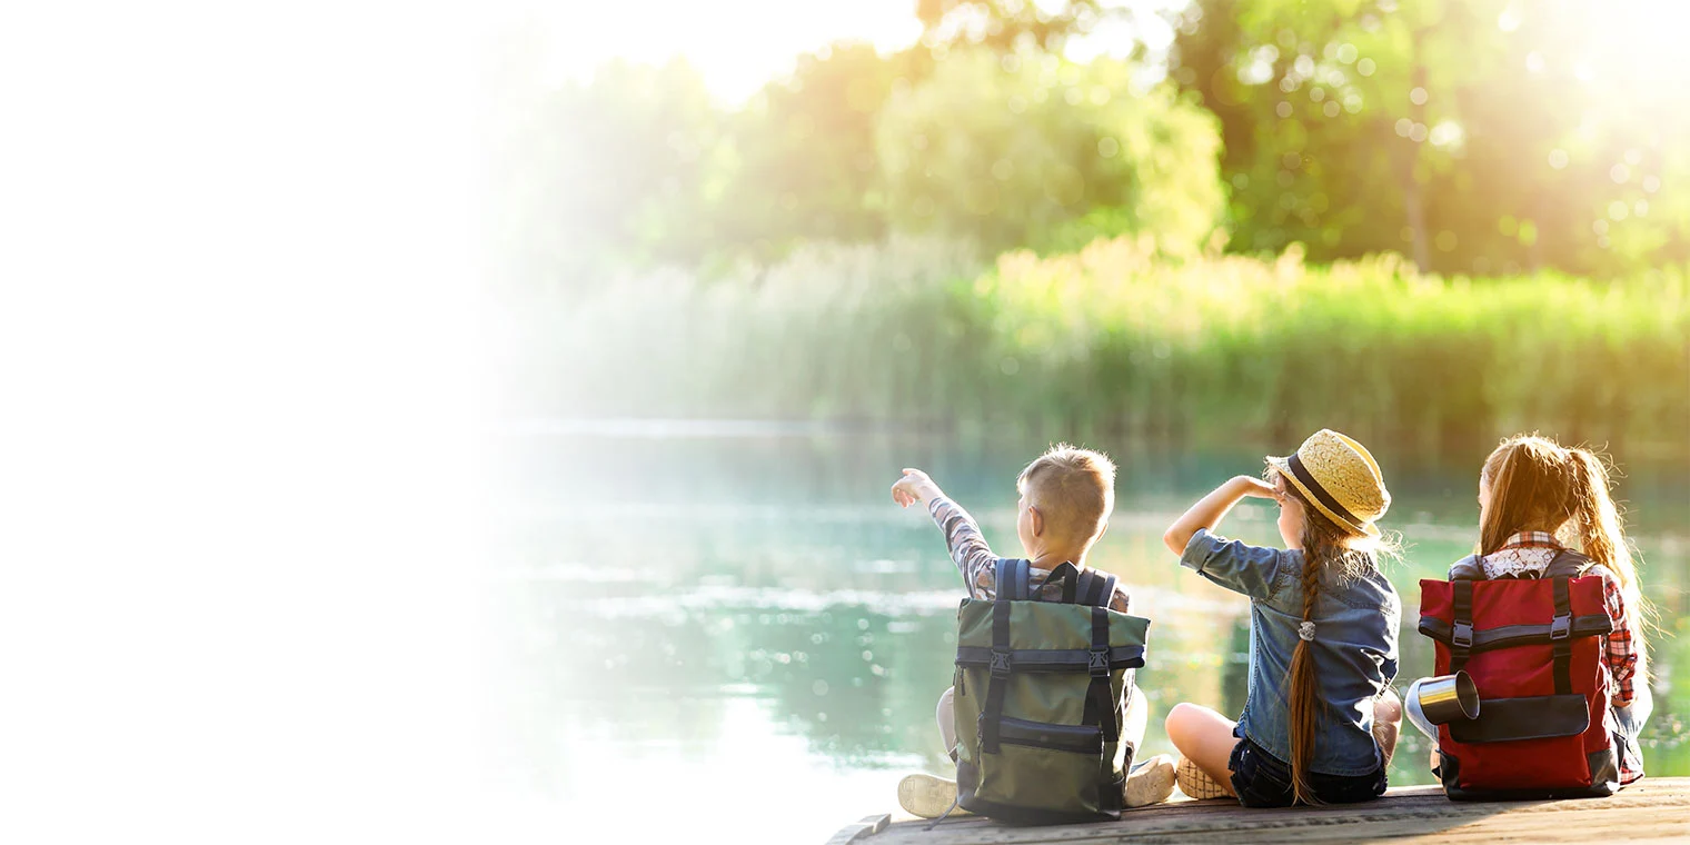
[[[1283,549],[1213,534],[1244,497],[1279,504]],[[1291,806],[1384,793],[1403,718],[1389,691],[1403,608],[1377,564],[1387,507],[1372,455],[1322,429],[1296,455],[1268,458],[1266,482],[1225,482],[1163,536],[1181,566],[1251,597],[1244,713],[1232,722],[1191,703],[1168,713],[1188,796]]]

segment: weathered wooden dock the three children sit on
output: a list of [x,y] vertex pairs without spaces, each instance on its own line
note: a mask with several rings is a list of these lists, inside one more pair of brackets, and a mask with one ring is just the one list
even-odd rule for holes
[[1455,803],[1436,786],[1391,789],[1364,804],[1246,810],[1232,799],[1169,801],[1129,810],[1120,821],[1014,826],[951,816],[928,831],[924,820],[869,816],[828,845],[1093,845],[1203,842],[1685,842],[1690,843],[1690,777],[1646,777],[1612,798],[1578,801]]

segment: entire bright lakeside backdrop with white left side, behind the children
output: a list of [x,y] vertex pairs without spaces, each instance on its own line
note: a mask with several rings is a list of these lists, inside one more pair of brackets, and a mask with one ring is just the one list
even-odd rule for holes
[[1683,22],[8,8],[0,826],[825,840],[943,771],[899,466],[1012,553],[1014,472],[1107,450],[1146,690],[1237,710],[1244,607],[1156,537],[1320,426],[1409,619],[1497,436],[1611,453],[1690,774]]

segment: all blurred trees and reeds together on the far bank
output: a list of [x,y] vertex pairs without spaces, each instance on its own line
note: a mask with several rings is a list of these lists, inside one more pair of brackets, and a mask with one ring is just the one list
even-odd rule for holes
[[1080,63],[1087,8],[924,2],[923,42],[740,106],[684,63],[507,98],[524,411],[1682,443],[1690,63],[1627,41],[1661,37],[1193,0],[1166,61]]

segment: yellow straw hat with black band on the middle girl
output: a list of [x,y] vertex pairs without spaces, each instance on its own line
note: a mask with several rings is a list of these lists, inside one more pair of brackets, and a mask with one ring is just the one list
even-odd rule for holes
[[1268,458],[1308,504],[1354,534],[1377,537],[1374,521],[1391,507],[1379,465],[1360,443],[1320,429],[1289,458]]

